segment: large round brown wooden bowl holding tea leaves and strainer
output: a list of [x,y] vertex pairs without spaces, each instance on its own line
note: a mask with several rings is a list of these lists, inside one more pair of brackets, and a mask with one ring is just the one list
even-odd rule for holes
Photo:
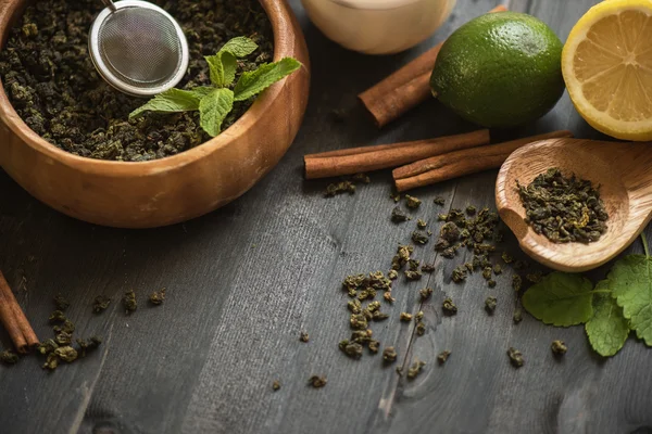
[[[304,67],[268,88],[231,127],[178,155],[143,163],[70,154],[34,132],[0,87],[0,166],[41,202],[71,217],[152,228],[210,213],[252,188],[284,156],[303,119],[310,66],[303,34],[285,0],[259,0],[274,30],[274,60]],[[27,0],[0,0],[0,44]]]

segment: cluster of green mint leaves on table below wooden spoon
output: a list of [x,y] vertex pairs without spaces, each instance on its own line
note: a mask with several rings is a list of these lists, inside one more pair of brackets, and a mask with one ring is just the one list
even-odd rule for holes
[[547,324],[584,323],[591,347],[613,356],[630,330],[652,346],[652,258],[644,235],[644,255],[617,260],[595,288],[580,275],[552,272],[523,296],[523,306]]

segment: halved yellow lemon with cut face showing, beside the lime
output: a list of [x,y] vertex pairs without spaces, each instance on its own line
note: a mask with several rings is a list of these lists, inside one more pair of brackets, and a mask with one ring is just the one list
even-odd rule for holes
[[562,53],[570,100],[595,129],[652,140],[652,0],[610,0],[575,25]]

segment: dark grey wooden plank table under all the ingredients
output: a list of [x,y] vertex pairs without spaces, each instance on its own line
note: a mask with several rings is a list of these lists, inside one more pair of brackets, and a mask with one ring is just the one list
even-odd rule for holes
[[[564,40],[595,0],[516,0],[515,11],[549,23]],[[40,336],[51,331],[51,298],[73,305],[79,334],[104,336],[101,349],[53,373],[36,357],[0,367],[0,433],[652,433],[652,352],[630,337],[612,359],[588,346],[581,327],[554,329],[534,318],[514,326],[510,275],[487,289],[476,273],[465,285],[450,282],[463,258],[437,257],[431,245],[417,257],[437,264],[422,282],[397,283],[392,319],[375,326],[401,362],[426,360],[413,382],[383,369],[380,356],[355,361],[337,343],[349,334],[341,280],[351,272],[386,270],[413,224],[389,221],[388,173],[353,196],[326,200],[327,182],[302,178],[305,153],[366,143],[428,138],[474,129],[436,101],[377,131],[355,106],[355,94],[441,40],[462,23],[497,4],[460,0],[437,35],[408,53],[372,58],[348,52],[299,15],[313,62],[310,106],[296,143],[260,184],[203,218],[158,230],[115,230],[62,216],[0,175],[0,268]],[[391,31],[391,29],[388,29]],[[349,115],[343,123],[334,108]],[[601,138],[567,97],[535,125],[499,131],[498,138],[569,128]],[[432,197],[447,207],[493,206],[496,173],[422,189],[416,213],[435,226]],[[634,250],[640,251],[638,242]],[[513,238],[507,250],[518,255]],[[606,268],[595,270],[601,278]],[[400,311],[417,309],[417,290],[435,288],[423,306],[427,332],[414,339]],[[166,286],[168,298],[148,307],[145,295]],[[117,303],[93,316],[98,294],[118,299],[137,289],[141,307],[126,316]],[[444,294],[460,312],[441,318]],[[499,307],[482,310],[487,295]],[[388,310],[387,308],[385,308]],[[308,344],[299,333],[311,335]],[[3,345],[7,335],[0,333]],[[569,347],[555,361],[550,343]],[[519,348],[516,370],[505,349]],[[439,367],[435,356],[452,349]],[[306,385],[312,374],[326,387]],[[283,387],[272,391],[272,381]]]

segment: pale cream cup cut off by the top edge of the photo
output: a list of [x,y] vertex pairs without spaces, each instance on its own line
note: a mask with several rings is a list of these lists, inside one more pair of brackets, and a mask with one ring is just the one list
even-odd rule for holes
[[328,38],[366,54],[390,54],[424,41],[456,0],[301,0]]

